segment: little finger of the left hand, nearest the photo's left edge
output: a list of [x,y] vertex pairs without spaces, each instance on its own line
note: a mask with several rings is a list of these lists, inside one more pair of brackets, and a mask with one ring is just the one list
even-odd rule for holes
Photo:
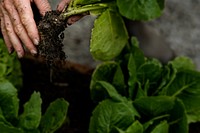
[[6,47],[8,49],[8,52],[12,53],[13,52],[13,47],[12,47],[12,44],[11,44],[11,42],[9,40],[9,37],[8,37],[7,33],[6,33],[3,17],[1,17],[1,33],[3,35],[3,39],[4,39],[4,42],[5,42]]

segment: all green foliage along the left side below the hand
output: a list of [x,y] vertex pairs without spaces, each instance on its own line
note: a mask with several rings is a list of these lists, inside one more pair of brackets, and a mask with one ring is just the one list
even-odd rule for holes
[[42,116],[42,99],[34,92],[19,114],[18,90],[22,86],[22,72],[17,56],[9,55],[0,40],[0,132],[51,133],[60,128],[66,118],[68,102],[57,99]]

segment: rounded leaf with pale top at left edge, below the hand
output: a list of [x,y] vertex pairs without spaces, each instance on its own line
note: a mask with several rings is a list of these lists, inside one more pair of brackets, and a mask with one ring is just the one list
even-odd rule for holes
[[6,80],[0,82],[0,107],[7,120],[17,118],[19,109],[17,89]]

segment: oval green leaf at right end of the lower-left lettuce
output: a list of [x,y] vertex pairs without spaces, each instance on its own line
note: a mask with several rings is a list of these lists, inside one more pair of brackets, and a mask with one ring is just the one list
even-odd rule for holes
[[54,133],[66,119],[69,103],[64,99],[57,99],[50,104],[42,116],[41,133]]

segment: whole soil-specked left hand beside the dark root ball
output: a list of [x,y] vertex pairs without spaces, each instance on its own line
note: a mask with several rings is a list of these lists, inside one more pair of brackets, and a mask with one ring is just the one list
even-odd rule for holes
[[19,58],[24,56],[24,48],[37,54],[39,34],[31,8],[33,2],[41,15],[51,10],[48,0],[0,0],[1,32],[8,51],[12,53],[14,48]]

